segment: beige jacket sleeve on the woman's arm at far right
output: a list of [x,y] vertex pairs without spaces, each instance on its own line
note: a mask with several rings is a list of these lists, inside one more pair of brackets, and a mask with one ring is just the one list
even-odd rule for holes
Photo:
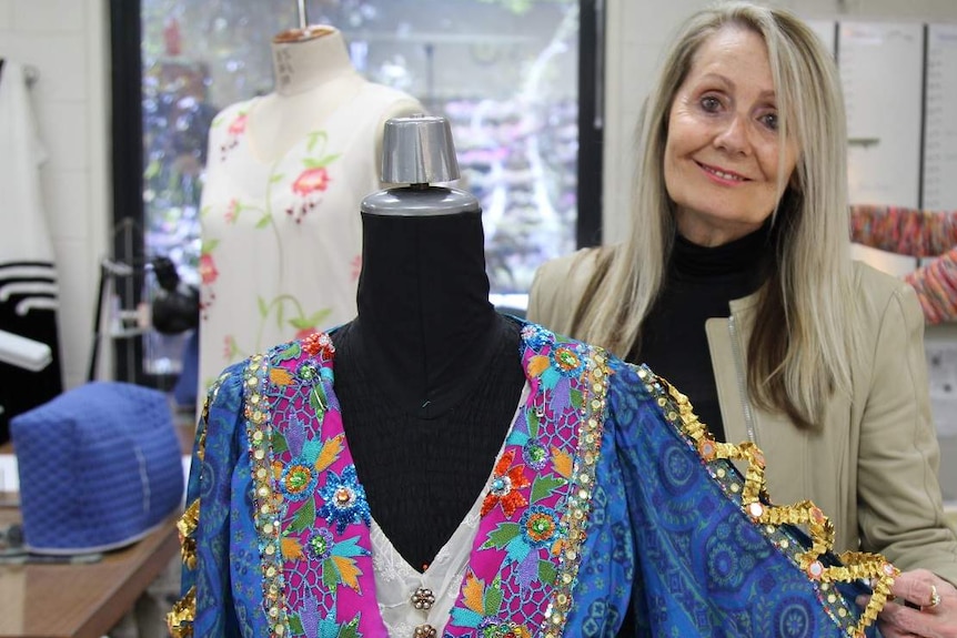
[[880,317],[860,419],[862,548],[880,551],[900,569],[924,567],[957,584],[957,537],[937,480],[940,452],[930,417],[924,315],[910,286],[893,285],[884,307],[865,306]]

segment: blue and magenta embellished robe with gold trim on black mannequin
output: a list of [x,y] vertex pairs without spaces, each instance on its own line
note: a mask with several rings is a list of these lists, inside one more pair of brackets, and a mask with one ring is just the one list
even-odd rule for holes
[[[629,607],[648,637],[864,635],[853,600],[868,590],[820,577],[854,566],[812,564],[798,527],[763,521],[772,504],[755,507],[752,483],[689,435],[665,382],[535,324],[522,336],[522,405],[478,495],[455,602],[423,635],[613,637]],[[314,334],[210,391],[174,635],[399,638],[376,602],[386,579],[334,361]]]

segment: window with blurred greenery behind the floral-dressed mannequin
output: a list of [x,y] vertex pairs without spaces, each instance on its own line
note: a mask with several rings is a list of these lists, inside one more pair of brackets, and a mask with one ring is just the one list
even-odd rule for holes
[[[123,9],[115,7],[121,1],[113,4],[115,39],[115,14]],[[462,171],[456,185],[475,194],[484,211],[494,294],[521,296],[542,262],[571,252],[583,236],[578,69],[581,26],[593,14],[591,4],[308,3],[309,22],[339,28],[366,78],[449,118]],[[169,257],[195,283],[210,122],[226,105],[272,89],[270,42],[299,24],[298,2],[140,0],[139,14],[143,261]],[[600,165],[600,151],[593,153],[590,165]],[[600,174],[588,174],[600,184]],[[595,240],[597,189],[590,191],[595,201],[585,231]],[[147,276],[143,294],[154,286]],[[179,343],[167,342],[158,335],[145,340],[147,372],[178,371]]]

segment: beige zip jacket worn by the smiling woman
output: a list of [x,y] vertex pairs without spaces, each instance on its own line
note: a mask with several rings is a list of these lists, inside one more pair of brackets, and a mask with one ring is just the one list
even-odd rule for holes
[[[568,334],[597,254],[585,249],[543,265],[528,318]],[[856,264],[854,280],[866,347],[852,368],[853,396],[833,397],[819,433],[748,401],[743,357],[756,295],[731,302],[729,318],[707,321],[727,440],[754,440],[767,459],[772,502],[813,500],[835,524],[838,551],[879,551],[900,569],[925,567],[957,585],[957,534],[945,519],[937,482],[924,315],[903,281],[864,264]]]

